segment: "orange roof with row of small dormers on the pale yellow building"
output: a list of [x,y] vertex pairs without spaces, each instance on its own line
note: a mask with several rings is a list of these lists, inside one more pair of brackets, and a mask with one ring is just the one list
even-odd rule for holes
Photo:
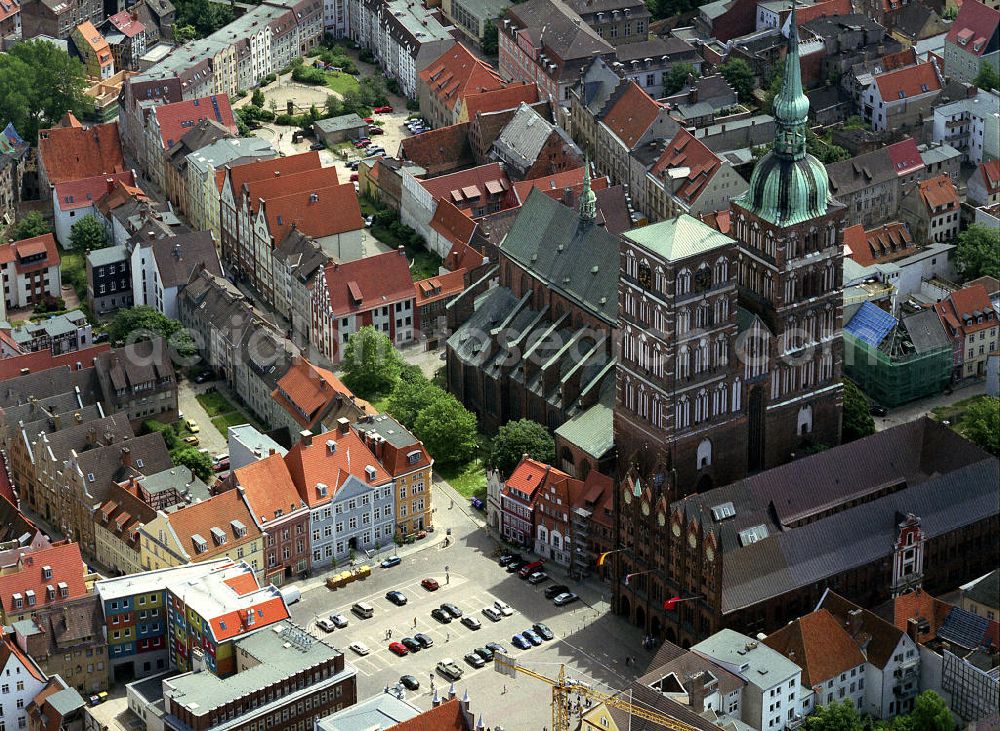
[[[255,541],[262,535],[239,490],[227,490],[213,495],[208,500],[167,513],[166,517],[177,540],[180,541],[181,548],[192,561],[214,558],[234,546]],[[240,521],[246,527],[245,536],[236,535],[232,525],[234,520]],[[225,543],[218,545],[213,540],[212,528],[218,528],[225,533]],[[200,535],[208,543],[206,551],[198,553],[194,543],[195,534]]]

